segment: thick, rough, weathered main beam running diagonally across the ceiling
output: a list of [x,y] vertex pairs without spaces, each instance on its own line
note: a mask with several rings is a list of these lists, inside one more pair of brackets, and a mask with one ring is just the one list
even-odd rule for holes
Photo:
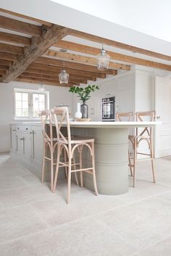
[[[9,67],[9,71],[4,75],[1,81],[9,82],[17,78],[17,76],[24,72],[38,56],[41,56],[51,45],[64,36],[67,36],[69,33],[70,30],[68,28],[52,25],[50,28],[47,28],[41,36],[33,37],[31,46],[25,47],[24,54],[20,55],[17,62],[14,62],[14,64]],[[4,53],[0,53],[0,58],[1,54]]]

